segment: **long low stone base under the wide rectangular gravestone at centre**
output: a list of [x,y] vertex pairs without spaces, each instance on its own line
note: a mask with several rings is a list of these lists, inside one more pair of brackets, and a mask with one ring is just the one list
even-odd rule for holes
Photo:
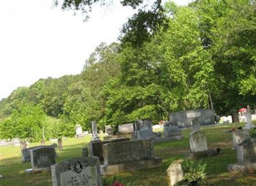
[[126,162],[123,164],[102,165],[100,166],[100,172],[103,176],[106,176],[111,174],[136,171],[139,169],[158,167],[161,165],[161,163],[162,159],[154,157],[153,159]]

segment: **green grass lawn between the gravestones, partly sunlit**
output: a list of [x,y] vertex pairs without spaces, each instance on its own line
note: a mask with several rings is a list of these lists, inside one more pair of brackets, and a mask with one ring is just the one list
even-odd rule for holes
[[[241,126],[244,124],[236,124]],[[206,174],[208,185],[256,185],[256,174],[232,174],[227,172],[227,165],[234,164],[236,160],[236,151],[231,150],[232,136],[230,133],[225,133],[225,130],[230,129],[233,124],[218,125],[203,127],[206,132],[207,143],[209,148],[221,148],[221,154],[215,157],[202,159],[206,162]],[[163,164],[160,167],[153,169],[142,169],[134,173],[116,174],[116,180],[122,182],[125,186],[129,185],[168,185],[168,177],[166,169],[172,162],[183,159],[184,153],[189,152],[189,132],[191,129],[182,130],[184,139],[182,141],[173,141],[168,143],[155,144],[155,156],[163,159]],[[90,137],[85,138],[68,138],[63,140],[63,150],[56,152],[58,157],[56,162],[81,157],[82,148],[87,146]],[[46,144],[51,144],[47,141]],[[32,143],[31,146],[40,145]],[[52,185],[51,173],[25,173],[25,169],[31,168],[30,162],[22,163],[19,146],[1,146],[0,147],[0,174],[4,176],[0,180],[0,185]],[[107,182],[113,180],[113,176],[103,178]]]

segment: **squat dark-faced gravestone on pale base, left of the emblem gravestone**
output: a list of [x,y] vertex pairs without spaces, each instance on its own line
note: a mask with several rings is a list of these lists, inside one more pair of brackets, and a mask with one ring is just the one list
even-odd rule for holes
[[44,146],[30,151],[31,169],[26,172],[49,170],[55,164],[56,151],[53,146]]

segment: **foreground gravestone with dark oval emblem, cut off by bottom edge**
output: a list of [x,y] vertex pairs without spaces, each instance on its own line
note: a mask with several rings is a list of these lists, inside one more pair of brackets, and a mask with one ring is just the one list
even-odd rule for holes
[[51,166],[53,186],[102,186],[98,157],[70,159]]

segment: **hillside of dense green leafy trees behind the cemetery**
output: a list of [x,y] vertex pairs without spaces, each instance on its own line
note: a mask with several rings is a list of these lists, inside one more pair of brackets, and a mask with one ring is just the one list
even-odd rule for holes
[[[81,74],[36,81],[0,102],[0,138],[74,136],[171,112],[213,108],[230,114],[256,105],[256,1],[171,1],[158,9],[154,27],[138,12],[120,42],[100,43]],[[156,18],[156,17],[155,17]],[[145,26],[145,24],[142,24]],[[152,25],[151,25],[152,26]],[[138,39],[139,38],[139,39]]]

